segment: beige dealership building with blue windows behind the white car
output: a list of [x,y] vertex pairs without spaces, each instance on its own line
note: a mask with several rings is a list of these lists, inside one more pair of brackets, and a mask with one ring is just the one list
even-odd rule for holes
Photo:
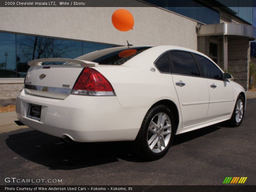
[[[133,6],[1,7],[0,106],[15,103],[28,61],[76,58],[127,45],[126,40],[202,52],[248,90],[250,41],[256,38],[253,0],[242,6],[230,0],[126,1]],[[120,8],[132,13],[132,30],[122,32],[112,25],[112,14]]]

